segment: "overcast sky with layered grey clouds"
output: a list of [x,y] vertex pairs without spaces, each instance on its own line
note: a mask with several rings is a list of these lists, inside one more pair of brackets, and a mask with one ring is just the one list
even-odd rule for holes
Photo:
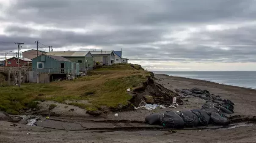
[[0,58],[35,40],[151,71],[256,70],[256,0],[0,0]]

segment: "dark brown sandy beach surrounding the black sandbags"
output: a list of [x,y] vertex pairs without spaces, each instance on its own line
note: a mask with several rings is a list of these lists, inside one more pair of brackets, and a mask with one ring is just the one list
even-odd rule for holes
[[[198,87],[208,90],[212,94],[220,95],[222,98],[230,99],[235,103],[234,115],[255,116],[256,115],[256,90],[220,85],[214,82],[207,82],[197,79],[187,79],[183,77],[170,77],[163,74],[155,74],[156,81],[166,88],[173,90],[182,88]],[[146,115],[152,112],[167,110],[182,110],[199,108],[205,101],[200,98],[189,98],[187,104],[179,106],[177,109],[166,108],[155,111],[136,110],[129,112],[115,112],[105,117],[59,117],[65,122],[44,122],[41,126],[31,127],[18,124],[16,127],[10,126],[10,122],[0,121],[0,143],[255,143],[256,125],[236,127],[232,129],[184,129],[170,133],[168,130],[104,130],[104,127],[132,126],[141,124]],[[102,130],[94,130],[96,124],[86,123],[85,120],[130,120],[138,123],[99,123]],[[40,122],[40,120],[39,120]],[[72,123],[71,123],[72,122]],[[78,122],[78,124],[74,124]],[[82,126],[81,126],[82,125]],[[86,127],[91,127],[88,130]],[[144,125],[145,126],[145,125]],[[49,127],[49,128],[45,128]],[[55,129],[50,129],[55,128]],[[28,132],[30,132],[28,134]]]

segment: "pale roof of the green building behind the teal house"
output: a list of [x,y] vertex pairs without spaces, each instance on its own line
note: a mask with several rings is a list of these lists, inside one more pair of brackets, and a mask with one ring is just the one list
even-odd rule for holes
[[55,52],[48,52],[46,53],[47,55],[53,55],[53,56],[71,56],[71,57],[82,57],[86,56],[89,51],[79,51],[79,52],[74,52],[74,51],[55,51]]

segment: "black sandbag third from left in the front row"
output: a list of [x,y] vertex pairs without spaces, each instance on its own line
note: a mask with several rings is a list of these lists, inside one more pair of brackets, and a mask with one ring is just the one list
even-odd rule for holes
[[185,126],[187,127],[196,127],[199,124],[198,117],[192,111],[182,110],[180,117],[182,117]]

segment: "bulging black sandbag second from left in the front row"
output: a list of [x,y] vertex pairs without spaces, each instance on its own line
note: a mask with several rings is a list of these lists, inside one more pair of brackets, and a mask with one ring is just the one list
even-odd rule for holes
[[162,117],[160,118],[160,122],[164,127],[168,128],[183,128],[184,127],[184,121],[182,120],[179,115],[177,115],[173,111],[167,111],[164,114],[162,114]]

